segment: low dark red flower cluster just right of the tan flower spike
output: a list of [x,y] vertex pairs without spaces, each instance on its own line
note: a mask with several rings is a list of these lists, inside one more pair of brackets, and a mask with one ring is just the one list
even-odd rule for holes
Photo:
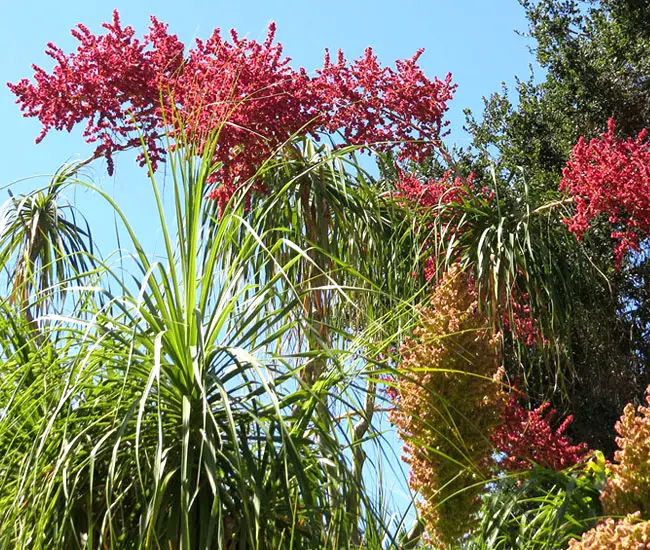
[[556,411],[543,403],[534,410],[519,404],[519,392],[512,392],[506,404],[503,423],[491,434],[497,451],[506,456],[500,466],[509,471],[526,470],[534,464],[552,470],[564,470],[585,458],[585,443],[571,445],[564,432],[573,420],[567,416],[553,429]]

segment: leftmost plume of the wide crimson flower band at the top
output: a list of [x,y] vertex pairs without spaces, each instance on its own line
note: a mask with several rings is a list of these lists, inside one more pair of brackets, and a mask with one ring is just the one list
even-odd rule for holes
[[[33,65],[33,84],[23,79],[8,86],[25,116],[42,124],[36,143],[51,129],[71,131],[85,120],[84,137],[99,142],[96,154],[106,156],[110,172],[114,151],[140,144],[136,128],[154,160],[164,153],[155,139],[160,84],[179,71],[183,45],[155,18],[142,41],[131,27],[120,25],[117,12],[104,28],[106,34],[95,36],[77,25],[71,31],[79,41],[76,53],[66,55],[50,42],[45,53],[55,61],[52,73]],[[144,156],[139,160],[144,163]]]

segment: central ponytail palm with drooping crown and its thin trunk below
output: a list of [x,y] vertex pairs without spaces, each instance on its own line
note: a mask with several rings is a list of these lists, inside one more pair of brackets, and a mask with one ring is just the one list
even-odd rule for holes
[[[364,442],[379,408],[377,350],[385,353],[410,330],[421,285],[413,276],[420,258],[418,228],[403,205],[382,189],[384,184],[361,168],[355,149],[333,149],[307,138],[292,140],[258,173],[268,193],[248,197],[246,219],[277,258],[265,262],[266,277],[277,277],[289,262],[280,284],[304,293],[302,308],[311,325],[297,343],[313,355],[313,361],[299,372],[305,387],[314,387],[340,369],[323,350],[351,352],[356,339],[350,335],[362,334],[366,339],[369,360],[350,383],[357,403],[353,409],[358,411],[346,412],[354,418],[350,429],[353,477],[361,487]],[[279,246],[272,247],[278,236],[282,237]],[[296,244],[306,254],[296,254]],[[376,350],[374,356],[371,349]],[[319,410],[326,419],[327,403]],[[356,491],[344,499],[355,523],[362,511],[361,496]],[[360,543],[359,532],[353,533],[353,541]]]

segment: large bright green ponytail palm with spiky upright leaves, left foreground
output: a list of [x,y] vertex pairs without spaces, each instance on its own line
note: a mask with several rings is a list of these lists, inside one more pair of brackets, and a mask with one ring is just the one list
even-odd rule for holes
[[[386,300],[387,289],[352,269],[351,255],[338,257],[343,245],[278,223],[273,197],[265,208],[234,199],[217,215],[205,198],[211,163],[191,149],[170,162],[169,220],[152,178],[163,259],[145,254],[95,189],[135,250],[134,283],[99,260],[84,271],[85,260],[71,272],[79,298],[64,314],[42,312],[38,341],[4,302],[0,548],[346,548],[364,532],[387,533],[353,466],[373,411],[354,381],[360,358],[385,340],[363,300]],[[325,152],[298,176],[340,162]],[[294,170],[280,163],[274,177],[298,185]],[[345,209],[361,198],[342,194],[348,181],[335,176],[346,172],[327,174],[310,183],[343,205],[331,208],[334,223],[351,222]],[[308,200],[313,212],[320,199]],[[62,259],[78,252],[61,250]],[[47,265],[33,264],[45,292]],[[336,309],[314,314],[315,296]],[[323,368],[307,381],[314,365]],[[335,421],[342,411],[364,430]]]

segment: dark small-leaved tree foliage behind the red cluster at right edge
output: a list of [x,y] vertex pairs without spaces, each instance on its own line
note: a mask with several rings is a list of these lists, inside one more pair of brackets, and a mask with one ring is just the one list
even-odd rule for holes
[[[636,138],[650,124],[650,5],[626,0],[522,5],[541,78],[518,80],[514,97],[505,89],[493,94],[485,100],[482,120],[470,114],[473,143],[462,158],[465,170],[477,174],[489,173],[493,164],[497,182],[504,182],[497,183],[502,195],[535,210],[563,200],[562,170],[579,138],[598,137],[610,119],[616,139]],[[575,375],[567,379],[563,396],[537,386],[574,414],[569,430],[574,437],[609,456],[614,423],[626,402],[641,397],[650,361],[647,254],[642,243],[641,252],[628,255],[617,269],[609,238],[624,231],[607,216],[597,218],[584,235],[588,262],[568,258],[566,273],[576,284],[563,346]],[[585,270],[591,274],[580,281]]]

